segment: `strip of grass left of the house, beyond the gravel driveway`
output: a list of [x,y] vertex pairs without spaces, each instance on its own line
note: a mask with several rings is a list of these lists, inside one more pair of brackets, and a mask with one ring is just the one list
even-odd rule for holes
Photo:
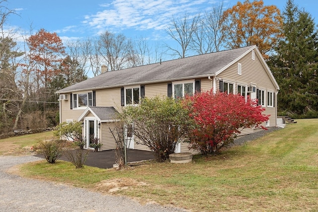
[[0,139],[0,155],[19,155],[27,154],[30,152],[30,147],[38,141],[46,139],[52,139],[53,132],[29,134],[24,136],[10,137],[6,139]]

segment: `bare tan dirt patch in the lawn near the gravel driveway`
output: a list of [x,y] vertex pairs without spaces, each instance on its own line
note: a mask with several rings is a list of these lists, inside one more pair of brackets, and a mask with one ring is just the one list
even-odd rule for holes
[[135,186],[148,186],[148,185],[144,182],[138,182],[130,178],[119,178],[119,179],[103,180],[97,183],[95,188],[93,188],[93,190],[100,193],[111,194],[113,192],[129,189]]

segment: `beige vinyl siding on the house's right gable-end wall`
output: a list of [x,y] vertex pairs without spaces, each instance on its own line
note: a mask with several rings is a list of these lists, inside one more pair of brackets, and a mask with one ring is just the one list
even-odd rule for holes
[[[241,75],[238,74],[238,63],[241,64]],[[225,71],[221,72],[217,78],[221,78],[224,81],[229,81],[235,83],[235,93],[237,93],[238,84],[249,86],[253,84],[258,89],[265,90],[265,111],[264,114],[270,115],[270,127],[276,126],[276,107],[277,104],[275,103],[275,107],[267,107],[267,91],[274,92],[275,101],[276,97],[276,87],[271,81],[268,73],[262,66],[258,57],[255,57],[255,60],[252,60],[252,53],[249,52],[243,58],[241,58],[238,62],[230,66]],[[217,80],[217,90],[220,89],[219,87],[219,80]],[[265,124],[264,124],[265,126]],[[249,130],[244,130],[248,133]],[[242,132],[242,133],[243,133]]]

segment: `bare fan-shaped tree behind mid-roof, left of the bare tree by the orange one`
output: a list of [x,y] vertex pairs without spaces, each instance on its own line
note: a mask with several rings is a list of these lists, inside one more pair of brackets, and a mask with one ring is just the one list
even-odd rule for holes
[[178,58],[184,58],[187,56],[189,45],[193,40],[193,35],[197,31],[200,15],[190,17],[188,13],[185,13],[183,17],[172,17],[171,23],[165,30],[166,33],[178,43],[181,50],[174,48],[166,44],[168,50],[172,52],[172,56],[178,56]]

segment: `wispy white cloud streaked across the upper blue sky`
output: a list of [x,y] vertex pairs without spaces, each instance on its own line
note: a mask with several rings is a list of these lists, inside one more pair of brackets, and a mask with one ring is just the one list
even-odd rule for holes
[[170,23],[172,15],[180,16],[185,12],[204,12],[211,0],[113,0],[101,4],[102,11],[86,15],[84,24],[96,30],[120,31],[162,30]]

